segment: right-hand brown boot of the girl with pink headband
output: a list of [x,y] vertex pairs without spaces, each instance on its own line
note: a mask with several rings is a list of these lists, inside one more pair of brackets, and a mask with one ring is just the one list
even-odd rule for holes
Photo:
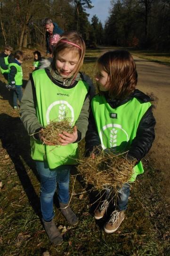
[[76,225],[78,223],[77,216],[75,215],[75,213],[73,213],[72,209],[70,208],[70,206],[68,206],[68,204],[60,203],[60,209],[69,224]]

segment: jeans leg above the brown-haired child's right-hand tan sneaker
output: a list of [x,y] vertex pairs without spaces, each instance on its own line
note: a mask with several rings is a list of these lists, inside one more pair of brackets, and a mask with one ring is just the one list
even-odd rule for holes
[[130,184],[125,183],[121,189],[118,190],[118,200],[116,208],[118,211],[125,211],[128,207],[128,198],[130,195]]

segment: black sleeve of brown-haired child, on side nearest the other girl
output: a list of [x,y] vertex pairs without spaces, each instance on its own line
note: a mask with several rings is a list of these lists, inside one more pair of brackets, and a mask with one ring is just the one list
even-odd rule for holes
[[101,145],[100,138],[98,136],[95,119],[90,109],[89,113],[89,125],[88,130],[85,137],[85,156],[89,156],[94,148]]

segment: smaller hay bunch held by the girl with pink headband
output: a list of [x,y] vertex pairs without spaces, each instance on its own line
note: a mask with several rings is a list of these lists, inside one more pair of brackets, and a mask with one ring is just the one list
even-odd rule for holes
[[59,134],[63,132],[73,133],[73,127],[69,119],[62,119],[61,121],[50,121],[49,124],[42,130],[41,134],[46,141],[55,145],[61,145]]

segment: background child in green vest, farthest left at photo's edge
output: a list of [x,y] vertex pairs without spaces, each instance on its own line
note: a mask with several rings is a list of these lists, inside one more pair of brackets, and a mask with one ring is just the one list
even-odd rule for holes
[[13,48],[9,45],[5,45],[4,52],[0,53],[0,72],[4,78],[8,81],[8,65],[11,58],[11,52]]

